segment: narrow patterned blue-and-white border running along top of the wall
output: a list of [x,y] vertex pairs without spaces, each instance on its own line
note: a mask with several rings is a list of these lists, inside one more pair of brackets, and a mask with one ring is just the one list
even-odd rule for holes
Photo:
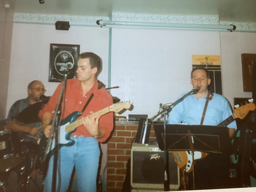
[[[112,21],[187,23],[187,24],[221,24],[235,25],[235,32],[256,32],[256,23],[219,21],[218,16],[204,15],[152,15],[113,12]],[[97,20],[109,20],[110,17],[55,15],[55,14],[14,14],[14,23],[34,23],[54,25],[56,21],[69,21],[72,26],[98,27]]]

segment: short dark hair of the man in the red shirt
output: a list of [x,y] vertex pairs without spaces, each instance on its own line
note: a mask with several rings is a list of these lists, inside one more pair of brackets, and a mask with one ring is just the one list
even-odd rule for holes
[[79,59],[90,59],[90,67],[92,68],[97,68],[97,73],[96,76],[98,76],[102,70],[102,60],[101,58],[96,55],[95,53],[92,52],[84,52],[79,55]]

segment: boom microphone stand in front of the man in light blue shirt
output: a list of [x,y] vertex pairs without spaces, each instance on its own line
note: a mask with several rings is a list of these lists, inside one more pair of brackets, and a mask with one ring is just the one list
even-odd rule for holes
[[185,94],[184,96],[180,97],[180,99],[178,99],[177,101],[175,101],[174,103],[172,103],[171,105],[169,105],[168,107],[166,107],[166,109],[161,110],[159,113],[157,113],[155,116],[153,116],[150,121],[153,121],[156,117],[158,117],[160,114],[164,113],[164,164],[165,164],[165,181],[164,181],[164,190],[165,192],[170,191],[170,185],[169,185],[169,180],[167,179],[167,172],[168,172],[168,164],[167,164],[167,152],[166,152],[166,112],[170,112],[171,111],[171,107],[174,107],[176,104],[180,103],[183,99],[185,99],[187,96],[193,95],[198,93],[198,91],[200,90],[200,87],[197,87],[196,89],[192,89],[191,91],[189,91],[187,94]]

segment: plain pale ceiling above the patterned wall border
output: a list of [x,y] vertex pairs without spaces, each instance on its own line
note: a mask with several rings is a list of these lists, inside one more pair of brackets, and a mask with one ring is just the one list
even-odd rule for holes
[[256,0],[0,0],[14,13],[108,16],[112,12],[211,15],[220,21],[255,22]]

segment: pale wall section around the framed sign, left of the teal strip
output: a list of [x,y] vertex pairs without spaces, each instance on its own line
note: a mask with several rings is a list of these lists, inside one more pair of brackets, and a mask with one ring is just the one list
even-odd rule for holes
[[69,31],[54,25],[14,23],[7,113],[18,99],[27,97],[28,83],[41,80],[51,96],[58,82],[48,82],[50,43],[78,44],[80,53],[94,52],[103,60],[99,79],[108,82],[108,29],[72,26]]

